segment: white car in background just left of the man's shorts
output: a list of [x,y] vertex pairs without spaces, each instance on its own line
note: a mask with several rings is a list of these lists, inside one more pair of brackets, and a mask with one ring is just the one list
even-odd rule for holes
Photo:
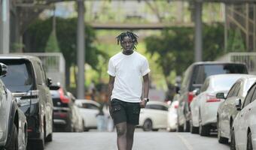
[[[78,99],[75,101],[84,121],[84,131],[97,128],[96,115],[99,113],[100,104],[96,101]],[[105,112],[106,113],[106,112]]]

